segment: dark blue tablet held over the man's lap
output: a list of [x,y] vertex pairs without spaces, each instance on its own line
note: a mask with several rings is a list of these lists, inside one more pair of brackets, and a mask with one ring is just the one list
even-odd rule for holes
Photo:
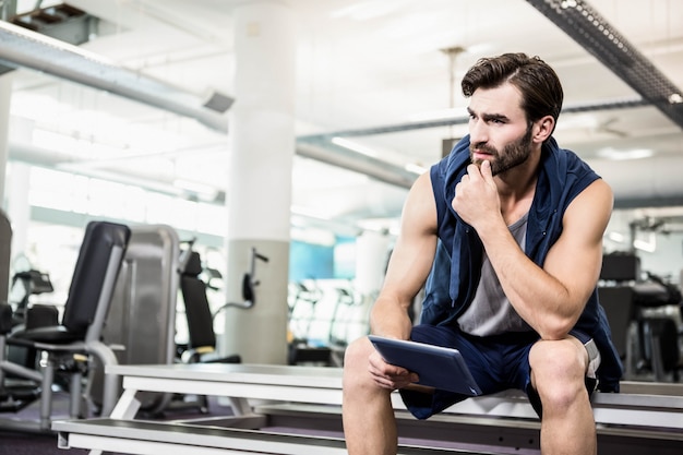
[[481,395],[459,350],[376,335],[369,338],[387,363],[418,373],[418,384],[468,396]]

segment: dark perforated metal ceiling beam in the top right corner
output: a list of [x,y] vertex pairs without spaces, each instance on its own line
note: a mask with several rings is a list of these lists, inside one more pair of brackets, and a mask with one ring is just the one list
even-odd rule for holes
[[644,99],[683,128],[683,92],[582,0],[527,0],[621,77]]

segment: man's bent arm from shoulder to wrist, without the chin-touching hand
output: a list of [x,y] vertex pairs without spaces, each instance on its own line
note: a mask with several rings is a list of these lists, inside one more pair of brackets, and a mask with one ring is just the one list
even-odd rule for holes
[[600,275],[602,236],[612,204],[612,191],[603,180],[579,193],[564,213],[562,235],[543,268],[524,254],[511,235],[484,240],[505,295],[541,338],[563,338],[584,311]]

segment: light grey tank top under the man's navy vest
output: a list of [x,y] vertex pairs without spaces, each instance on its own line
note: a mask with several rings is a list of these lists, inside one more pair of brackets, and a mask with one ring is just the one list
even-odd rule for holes
[[[527,237],[527,218],[528,214],[508,226],[510,232],[523,250]],[[481,279],[477,292],[471,304],[458,318],[457,322],[463,332],[476,336],[531,331],[529,324],[510,304],[486,251],[483,252]]]

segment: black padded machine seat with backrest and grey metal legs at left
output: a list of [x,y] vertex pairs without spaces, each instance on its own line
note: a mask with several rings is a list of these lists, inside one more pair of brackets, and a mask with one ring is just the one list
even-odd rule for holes
[[[5,373],[36,383],[36,388],[40,391],[40,430],[50,428],[51,391],[57,371],[69,374],[71,416],[81,417],[81,380],[88,357],[93,355],[104,364],[116,362],[111,349],[101,343],[101,330],[130,235],[130,228],[124,225],[88,223],[61,323],[47,326],[27,324],[26,328],[5,333],[0,340],[3,345],[24,346],[47,354],[47,359],[40,362],[40,371],[16,364],[4,357],[0,362],[0,386],[4,394],[12,396],[11,387],[5,383]],[[76,357],[83,360],[74,368]],[[107,404],[103,412],[111,410],[118,394],[118,384],[113,381],[108,382],[107,387]]]

